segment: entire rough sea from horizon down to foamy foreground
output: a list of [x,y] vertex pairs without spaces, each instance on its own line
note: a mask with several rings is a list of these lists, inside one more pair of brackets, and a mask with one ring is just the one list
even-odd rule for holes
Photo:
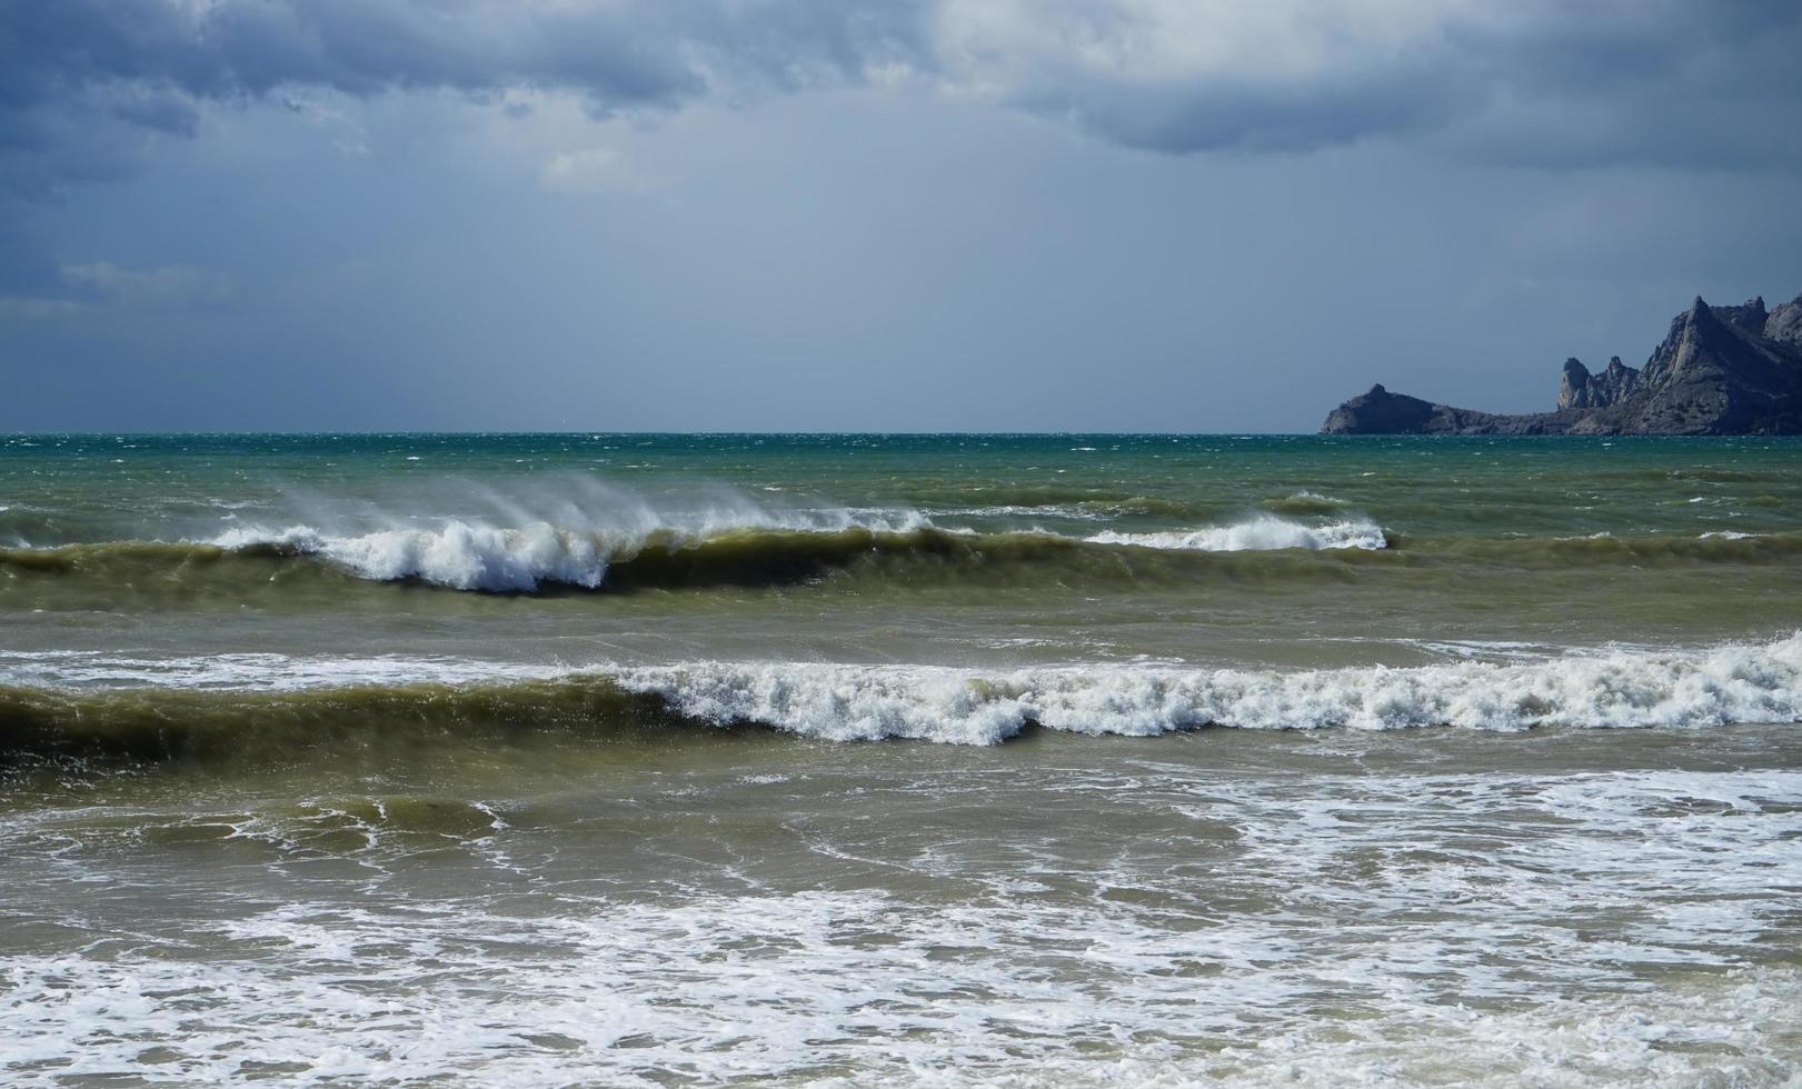
[[1802,441],[0,436],[0,1084],[1802,1085]]

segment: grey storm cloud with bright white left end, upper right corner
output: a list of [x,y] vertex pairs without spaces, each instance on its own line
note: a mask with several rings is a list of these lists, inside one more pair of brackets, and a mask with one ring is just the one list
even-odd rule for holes
[[1789,0],[987,7],[941,56],[1153,151],[1397,137],[1517,166],[1802,166]]

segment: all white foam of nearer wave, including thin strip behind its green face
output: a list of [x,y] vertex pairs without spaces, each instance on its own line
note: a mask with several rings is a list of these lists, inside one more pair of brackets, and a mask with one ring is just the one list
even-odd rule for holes
[[1238,729],[1523,731],[1706,727],[1802,720],[1802,634],[1764,646],[1616,650],[1413,668],[1184,670],[1085,662],[1029,670],[928,664],[528,664],[450,657],[115,657],[0,652],[0,684],[296,691],[386,684],[604,679],[714,724],[755,722],[834,742],[1004,742],[1029,724],[1148,736]]

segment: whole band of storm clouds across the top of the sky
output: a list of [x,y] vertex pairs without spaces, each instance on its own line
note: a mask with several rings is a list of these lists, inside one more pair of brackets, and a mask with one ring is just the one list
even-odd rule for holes
[[25,209],[285,88],[609,113],[903,81],[1175,155],[1797,169],[1798,56],[1793,0],[0,0],[0,265],[45,279]]

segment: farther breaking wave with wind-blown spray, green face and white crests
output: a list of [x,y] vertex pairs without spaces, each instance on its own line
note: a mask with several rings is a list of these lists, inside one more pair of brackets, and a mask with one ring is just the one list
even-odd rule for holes
[[[371,533],[312,526],[236,529],[211,542],[119,540],[0,547],[0,572],[63,576],[96,592],[144,598],[301,592],[315,583],[413,583],[530,594],[778,587],[836,572],[869,587],[923,583],[1119,583],[1225,578],[1245,583],[1342,581],[1368,567],[1452,574],[1467,563],[1523,571],[1589,567],[1773,565],[1802,558],[1802,533],[1496,538],[1413,538],[1375,522],[1301,522],[1256,515],[1200,529],[1088,536],[1042,527],[975,531],[924,515],[849,515],[840,524],[505,527],[476,520]],[[25,587],[0,581],[0,592]]]

